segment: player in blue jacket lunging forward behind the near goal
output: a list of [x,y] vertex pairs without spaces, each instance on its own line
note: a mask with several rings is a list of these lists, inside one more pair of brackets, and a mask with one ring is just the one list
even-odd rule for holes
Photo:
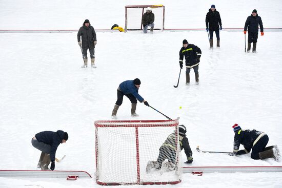
[[138,89],[140,87],[141,81],[138,78],[135,78],[134,80],[126,80],[120,83],[120,85],[117,88],[117,100],[114,105],[114,109],[112,111],[112,118],[117,119],[116,113],[120,105],[123,103],[124,95],[129,98],[131,102],[131,116],[136,117],[138,114],[136,114],[136,106],[137,106],[137,100],[139,102],[144,102],[144,105],[149,106],[148,102],[144,100],[142,96],[138,94]]

